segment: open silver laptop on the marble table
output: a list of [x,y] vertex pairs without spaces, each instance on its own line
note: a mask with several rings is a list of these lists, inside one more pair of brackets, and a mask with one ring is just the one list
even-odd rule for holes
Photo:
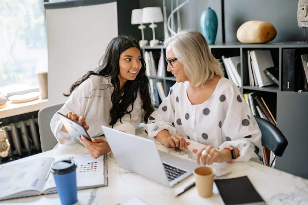
[[193,173],[197,163],[157,150],[153,140],[102,126],[120,166],[173,187]]

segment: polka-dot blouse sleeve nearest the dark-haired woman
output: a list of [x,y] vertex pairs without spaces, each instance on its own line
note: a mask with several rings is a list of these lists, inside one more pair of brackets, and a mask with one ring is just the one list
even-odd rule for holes
[[176,133],[176,129],[172,125],[174,122],[174,98],[176,85],[173,85],[170,89],[169,95],[160,104],[159,108],[155,110],[148,119],[148,124],[145,126],[145,130],[148,132],[148,136],[154,139],[158,132],[161,130],[168,130],[170,135]]

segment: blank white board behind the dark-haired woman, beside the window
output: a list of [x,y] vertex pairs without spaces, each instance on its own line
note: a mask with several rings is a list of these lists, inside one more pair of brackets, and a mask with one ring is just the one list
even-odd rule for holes
[[118,36],[116,2],[47,9],[49,105],[65,102],[70,86],[98,67],[109,41]]

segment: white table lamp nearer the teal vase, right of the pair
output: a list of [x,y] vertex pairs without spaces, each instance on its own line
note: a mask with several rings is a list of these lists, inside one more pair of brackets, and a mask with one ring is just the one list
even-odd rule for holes
[[142,12],[142,22],[143,23],[151,23],[150,28],[152,28],[153,32],[153,40],[150,41],[150,46],[158,45],[159,40],[155,39],[155,31],[154,29],[157,27],[156,24],[158,22],[163,22],[163,13],[161,12],[160,7],[145,7]]

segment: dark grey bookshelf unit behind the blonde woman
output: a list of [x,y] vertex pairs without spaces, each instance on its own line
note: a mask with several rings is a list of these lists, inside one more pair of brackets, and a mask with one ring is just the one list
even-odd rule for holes
[[[227,57],[240,56],[241,58],[241,81],[240,91],[242,94],[253,91],[261,93],[266,101],[270,111],[277,121],[277,127],[282,131],[288,140],[288,146],[282,157],[276,159],[275,168],[292,173],[304,178],[308,178],[308,172],[305,164],[308,162],[308,92],[292,92],[282,89],[282,60],[283,49],[302,48],[307,49],[308,43],[282,42],[266,44],[243,44],[222,43],[209,45],[214,57],[221,58],[222,55]],[[156,50],[156,52],[165,52],[163,45],[155,47],[144,46],[141,48],[143,53],[146,50]],[[279,69],[279,85],[270,85],[265,87],[250,86],[247,51],[253,49],[268,49],[271,52],[274,65]],[[165,54],[164,54],[165,55]],[[158,61],[157,61],[158,62]],[[157,64],[156,64],[157,65]],[[164,61],[166,67],[166,63]],[[168,74],[169,72],[166,72]],[[166,96],[169,88],[175,83],[175,78],[170,75],[167,77],[150,76],[150,79],[162,81]]]

